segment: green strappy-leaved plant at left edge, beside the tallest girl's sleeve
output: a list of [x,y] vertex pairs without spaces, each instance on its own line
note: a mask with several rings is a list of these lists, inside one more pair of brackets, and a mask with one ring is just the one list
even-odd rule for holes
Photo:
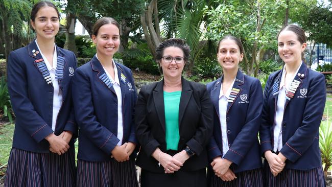
[[3,76],[0,78],[0,118],[5,116],[12,123],[13,115],[14,112],[9,98],[6,78]]

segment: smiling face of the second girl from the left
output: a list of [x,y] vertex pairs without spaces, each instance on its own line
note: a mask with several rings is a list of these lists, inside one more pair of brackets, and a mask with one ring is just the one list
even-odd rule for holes
[[120,31],[113,24],[105,24],[98,30],[97,36],[92,35],[92,41],[96,44],[98,56],[110,56],[117,52],[120,45]]

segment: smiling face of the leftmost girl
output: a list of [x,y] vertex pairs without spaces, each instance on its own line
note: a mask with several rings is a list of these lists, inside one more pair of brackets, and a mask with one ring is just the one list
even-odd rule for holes
[[53,7],[44,6],[36,14],[35,20],[30,20],[36,30],[37,40],[54,40],[59,31],[59,17]]

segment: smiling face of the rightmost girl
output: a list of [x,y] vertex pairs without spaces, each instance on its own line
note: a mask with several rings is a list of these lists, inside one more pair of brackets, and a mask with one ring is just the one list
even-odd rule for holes
[[286,64],[300,63],[306,43],[301,43],[293,31],[284,30],[278,36],[278,53]]

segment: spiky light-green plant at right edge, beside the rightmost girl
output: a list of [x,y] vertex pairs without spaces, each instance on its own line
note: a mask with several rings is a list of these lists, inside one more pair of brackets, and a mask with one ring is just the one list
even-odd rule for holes
[[[328,119],[328,116],[327,116]],[[321,123],[319,127],[319,148],[322,156],[322,162],[325,163],[324,174],[332,166],[332,124],[327,120],[326,124]]]

